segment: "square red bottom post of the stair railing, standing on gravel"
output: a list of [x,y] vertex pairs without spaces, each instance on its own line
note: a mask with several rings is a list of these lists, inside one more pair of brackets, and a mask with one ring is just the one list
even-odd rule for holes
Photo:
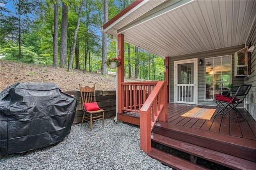
[[151,114],[140,111],[140,149],[145,153],[151,150]]

